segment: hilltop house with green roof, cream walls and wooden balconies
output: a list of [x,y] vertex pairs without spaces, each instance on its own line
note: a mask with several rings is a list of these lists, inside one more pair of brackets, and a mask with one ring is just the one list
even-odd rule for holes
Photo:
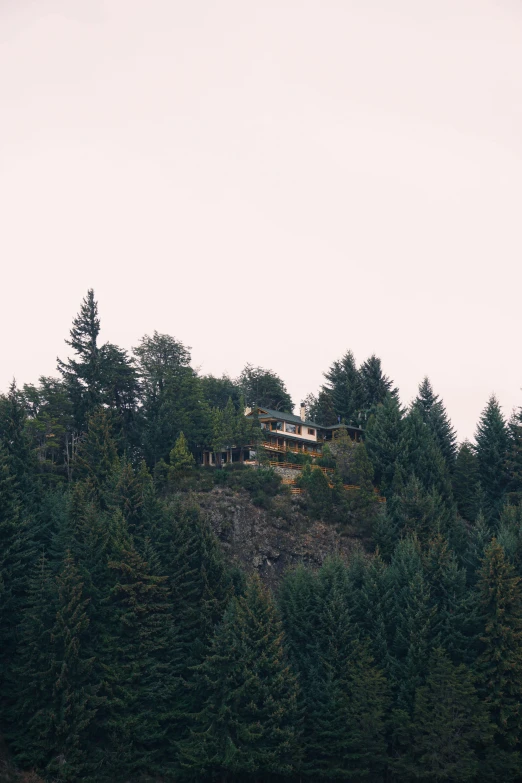
[[[348,424],[335,424],[332,427],[321,427],[315,421],[306,418],[305,406],[301,403],[300,415],[285,411],[272,410],[258,406],[255,410],[247,408],[245,415],[252,418],[257,414],[263,433],[263,448],[274,460],[289,452],[294,454],[309,454],[320,457],[323,445],[344,430],[352,440],[360,441],[363,430],[361,427]],[[222,464],[230,462],[248,462],[255,459],[255,446],[242,448],[231,446],[222,453]],[[202,455],[204,465],[214,465],[215,455],[204,450]]]

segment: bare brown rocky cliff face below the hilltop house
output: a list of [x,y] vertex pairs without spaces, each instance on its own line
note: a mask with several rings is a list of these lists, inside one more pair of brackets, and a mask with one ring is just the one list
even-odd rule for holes
[[289,566],[320,566],[328,555],[347,556],[355,545],[355,539],[340,535],[335,526],[302,514],[298,497],[277,497],[269,511],[254,506],[244,491],[214,489],[199,493],[197,502],[227,559],[247,573],[257,570],[271,586]]

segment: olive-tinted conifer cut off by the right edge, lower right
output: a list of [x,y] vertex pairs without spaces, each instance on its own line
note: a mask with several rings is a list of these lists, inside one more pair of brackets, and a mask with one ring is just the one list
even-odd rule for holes
[[522,595],[520,578],[493,539],[479,573],[483,635],[476,663],[482,698],[497,746],[517,749],[522,739]]

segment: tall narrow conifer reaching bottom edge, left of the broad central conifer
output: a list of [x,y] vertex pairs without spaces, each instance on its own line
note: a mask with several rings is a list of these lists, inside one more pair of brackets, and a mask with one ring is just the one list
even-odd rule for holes
[[115,575],[101,658],[105,674],[104,768],[100,780],[159,774],[172,765],[168,728],[176,711],[176,648],[166,576],[154,574],[122,528],[109,562]]

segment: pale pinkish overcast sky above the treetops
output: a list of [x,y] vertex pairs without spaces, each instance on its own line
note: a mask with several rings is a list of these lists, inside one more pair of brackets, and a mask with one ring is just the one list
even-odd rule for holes
[[0,389],[102,339],[522,405],[520,0],[0,0]]

